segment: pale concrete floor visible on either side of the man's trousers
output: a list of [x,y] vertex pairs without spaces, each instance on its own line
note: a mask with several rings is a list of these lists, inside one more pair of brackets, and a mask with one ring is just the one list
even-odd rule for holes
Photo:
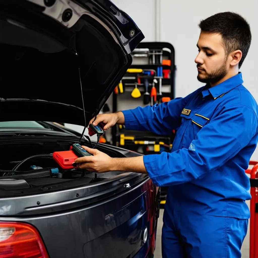
[[[247,202],[248,205],[250,202]],[[155,249],[155,253],[154,253],[154,258],[162,258],[161,255],[161,230],[162,230],[162,218],[163,218],[163,212],[164,210],[161,209],[160,210],[160,216],[158,219],[158,229],[157,229],[157,239],[156,239],[156,249]],[[248,232],[246,235],[246,238],[244,240],[242,249],[241,249],[241,253],[242,253],[242,258],[249,258],[249,224],[248,224]]]

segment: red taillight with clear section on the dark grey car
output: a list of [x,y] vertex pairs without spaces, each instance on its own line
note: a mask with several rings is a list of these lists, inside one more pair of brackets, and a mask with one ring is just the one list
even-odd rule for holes
[[36,228],[27,223],[0,222],[0,258],[49,258]]

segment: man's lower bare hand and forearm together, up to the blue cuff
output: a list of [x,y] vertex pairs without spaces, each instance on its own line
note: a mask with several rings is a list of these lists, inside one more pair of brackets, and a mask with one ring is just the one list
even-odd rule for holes
[[143,163],[143,156],[132,158],[111,158],[107,154],[82,146],[85,150],[94,156],[85,156],[77,158],[74,162],[80,169],[87,169],[91,172],[103,173],[109,171],[131,171],[146,174]]

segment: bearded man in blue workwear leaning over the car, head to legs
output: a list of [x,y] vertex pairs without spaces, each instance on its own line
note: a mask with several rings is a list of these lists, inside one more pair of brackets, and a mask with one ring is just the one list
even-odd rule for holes
[[98,115],[93,123],[104,122],[104,130],[125,124],[126,129],[161,135],[176,130],[172,152],[111,158],[84,147],[94,156],[75,162],[99,173],[148,173],[157,186],[168,186],[164,258],[238,258],[250,216],[245,170],[258,135],[258,107],[239,72],[251,31],[245,19],[232,12],[215,14],[199,27],[195,62],[204,87],[152,107]]

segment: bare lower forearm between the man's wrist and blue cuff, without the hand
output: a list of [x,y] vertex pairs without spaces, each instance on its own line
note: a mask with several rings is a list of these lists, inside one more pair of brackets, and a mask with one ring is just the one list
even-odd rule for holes
[[130,171],[147,174],[143,156],[132,158],[112,158],[112,171]]

